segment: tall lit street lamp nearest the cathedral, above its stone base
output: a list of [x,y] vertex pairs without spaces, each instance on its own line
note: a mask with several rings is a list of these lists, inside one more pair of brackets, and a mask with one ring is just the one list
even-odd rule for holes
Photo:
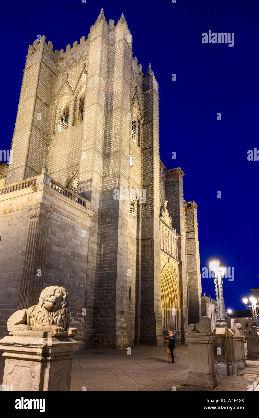
[[224,304],[223,298],[223,282],[222,278],[225,273],[224,267],[220,266],[220,261],[217,258],[213,257],[212,261],[209,263],[213,273],[214,273],[214,284],[215,284],[215,291],[216,291],[216,301],[217,301],[217,321],[219,325],[220,323],[224,323],[226,317],[226,309]]

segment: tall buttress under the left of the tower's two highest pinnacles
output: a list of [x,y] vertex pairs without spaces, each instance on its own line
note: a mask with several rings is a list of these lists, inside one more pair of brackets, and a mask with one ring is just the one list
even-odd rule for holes
[[[90,226],[85,293],[85,307],[87,309],[85,336],[88,339],[88,347],[94,343],[94,338],[96,337],[95,317],[100,318],[99,308],[97,308],[96,303],[98,303],[99,298],[97,294],[98,264],[102,251],[100,216],[102,212],[103,146],[109,37],[110,31],[106,20],[100,16],[95,25],[91,27],[88,36],[89,59],[86,66],[85,108],[79,160],[79,194],[90,199],[91,209],[95,212]],[[82,158],[83,153],[86,153],[86,158],[84,159]],[[101,268],[101,265],[99,267]]]

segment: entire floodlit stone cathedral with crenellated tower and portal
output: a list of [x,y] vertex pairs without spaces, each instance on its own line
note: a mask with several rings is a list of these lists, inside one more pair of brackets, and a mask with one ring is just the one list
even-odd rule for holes
[[[163,138],[162,138],[163,140]],[[26,59],[12,162],[1,164],[0,337],[42,288],[70,296],[86,347],[162,345],[201,316],[197,205],[159,159],[158,84],[103,10],[65,51]]]

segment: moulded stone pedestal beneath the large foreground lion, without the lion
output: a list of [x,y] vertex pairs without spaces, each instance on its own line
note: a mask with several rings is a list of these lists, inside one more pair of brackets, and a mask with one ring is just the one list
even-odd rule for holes
[[70,390],[72,358],[82,342],[52,338],[52,332],[14,331],[0,340],[5,357],[3,385],[12,390]]

